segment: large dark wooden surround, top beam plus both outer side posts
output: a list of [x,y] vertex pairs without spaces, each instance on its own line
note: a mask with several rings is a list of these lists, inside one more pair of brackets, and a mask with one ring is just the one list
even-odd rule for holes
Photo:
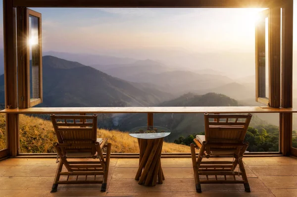
[[[293,0],[3,0],[5,107],[10,109],[18,107],[16,7],[282,7],[281,107],[292,107]],[[284,21],[286,22],[284,23]],[[280,112],[280,122],[282,123],[280,125],[281,152],[288,155],[290,153],[288,138],[292,132],[292,113]],[[18,114],[7,113],[6,128],[10,156],[18,154],[18,125]]]

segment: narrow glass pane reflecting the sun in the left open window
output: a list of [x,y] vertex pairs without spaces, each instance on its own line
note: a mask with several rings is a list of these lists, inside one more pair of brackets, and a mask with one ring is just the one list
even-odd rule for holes
[[29,47],[30,47],[30,99],[40,98],[39,92],[39,26],[38,18],[29,16]]

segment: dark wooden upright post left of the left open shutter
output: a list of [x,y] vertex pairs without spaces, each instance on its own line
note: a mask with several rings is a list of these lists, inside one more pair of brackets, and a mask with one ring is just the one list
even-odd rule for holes
[[[3,0],[5,108],[17,108],[16,18],[12,0]],[[18,152],[18,114],[6,115],[10,156]]]

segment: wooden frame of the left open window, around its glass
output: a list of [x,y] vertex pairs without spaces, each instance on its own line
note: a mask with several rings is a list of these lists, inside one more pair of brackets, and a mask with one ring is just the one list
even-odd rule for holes
[[[29,38],[29,17],[38,18],[38,49],[35,51],[39,56],[38,61],[38,88],[37,98],[30,98],[30,48]],[[43,81],[42,81],[42,16],[34,10],[17,8],[17,58],[18,58],[18,106],[19,108],[30,108],[43,102]],[[33,63],[32,63],[33,64]],[[33,65],[32,65],[33,69]],[[32,78],[33,78],[32,74]],[[33,83],[33,80],[32,80]],[[35,86],[35,84],[32,84]]]

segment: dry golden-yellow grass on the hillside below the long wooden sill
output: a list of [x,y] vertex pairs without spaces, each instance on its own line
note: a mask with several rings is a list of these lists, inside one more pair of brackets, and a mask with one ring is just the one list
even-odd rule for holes
[[[56,137],[48,120],[20,115],[20,152],[55,152],[52,143]],[[5,147],[5,116],[0,114],[0,149]],[[136,153],[139,152],[137,139],[126,132],[98,129],[98,138],[108,138],[112,144],[111,152]],[[190,147],[174,143],[164,143],[163,152],[190,152]]]

